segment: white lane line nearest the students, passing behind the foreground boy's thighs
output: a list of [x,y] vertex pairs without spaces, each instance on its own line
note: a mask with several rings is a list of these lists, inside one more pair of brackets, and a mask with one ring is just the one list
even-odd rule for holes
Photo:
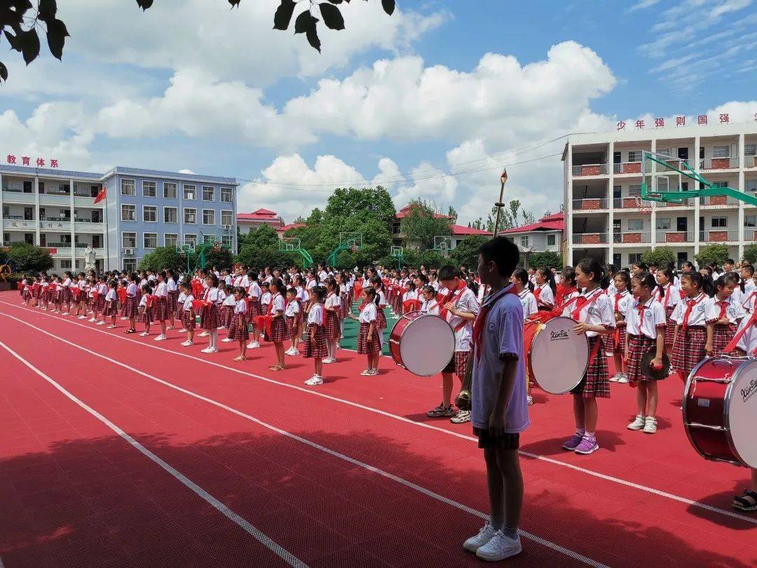
[[[0,301],[0,304],[7,304],[8,306],[18,307],[20,310],[26,311],[25,308],[20,307],[20,306],[16,306],[14,304],[9,304],[6,301]],[[60,339],[60,338],[58,338],[57,335],[54,335],[54,334],[52,334],[50,332],[47,332],[47,331],[45,331],[45,329],[41,329],[41,328],[39,328],[37,326],[33,326],[31,323],[27,323],[26,321],[20,320],[19,318],[11,316],[10,314],[3,314],[3,315],[5,315],[5,317],[10,317],[11,319],[16,320],[16,321],[18,321],[20,323],[23,323],[26,326],[30,326],[33,329],[37,329],[38,331],[40,331],[42,333],[46,333],[47,335],[50,335],[51,337],[55,337],[55,339]],[[214,361],[203,359],[202,357],[195,357],[194,355],[182,353],[180,351],[171,351],[170,349],[158,347],[157,345],[148,345],[147,343],[142,343],[142,342],[136,341],[134,339],[129,339],[129,338],[127,338],[125,336],[122,336],[122,335],[115,335],[114,333],[106,332],[106,331],[101,330],[101,329],[95,329],[95,328],[93,328],[91,326],[86,326],[86,325],[83,325],[83,324],[75,322],[75,321],[65,320],[62,317],[56,318],[56,319],[58,319],[58,320],[64,320],[67,323],[73,323],[73,325],[75,325],[75,326],[83,327],[84,329],[89,329],[90,331],[93,331],[93,332],[104,333],[105,335],[108,335],[109,337],[114,337],[116,339],[123,339],[123,341],[129,342],[129,343],[133,343],[133,344],[136,344],[136,345],[142,345],[143,347],[147,347],[147,348],[151,348],[151,349],[157,349],[157,351],[164,351],[165,353],[170,353],[170,354],[176,355],[177,357],[186,357],[187,359],[196,360],[196,361],[199,361],[201,363],[204,363],[204,364],[207,364],[207,365],[211,365],[213,367],[218,367],[220,369],[232,371],[232,373],[237,373],[239,375],[248,376],[248,377],[251,377],[253,379],[257,379],[257,380],[263,381],[263,382],[268,382],[268,383],[270,383],[272,385],[279,385],[279,386],[285,387],[287,389],[294,389],[295,391],[305,392],[305,393],[307,393],[308,395],[311,395],[311,396],[318,396],[318,397],[321,397],[321,398],[326,398],[329,401],[338,402],[340,404],[347,404],[347,405],[355,407],[355,408],[360,408],[360,410],[366,410],[366,412],[372,412],[372,413],[375,413],[375,414],[380,414],[381,416],[384,416],[384,417],[387,417],[387,418],[391,418],[392,420],[399,420],[400,422],[407,423],[407,424],[412,424],[413,426],[417,426],[419,428],[425,428],[425,429],[428,429],[428,430],[434,430],[436,432],[441,432],[441,433],[444,433],[444,434],[447,434],[447,435],[454,436],[456,438],[462,438],[464,440],[469,440],[471,442],[478,442],[478,438],[475,438],[474,436],[470,436],[470,435],[466,435],[466,434],[461,434],[459,432],[454,432],[453,430],[447,430],[447,429],[441,428],[440,426],[434,426],[432,424],[428,424],[428,423],[425,423],[425,422],[416,422],[415,420],[410,420],[410,418],[406,418],[406,417],[403,417],[403,416],[398,416],[397,414],[391,414],[391,412],[387,412],[386,410],[380,410],[378,408],[373,408],[373,407],[366,406],[365,404],[360,404],[359,402],[348,401],[348,400],[346,400],[344,398],[338,398],[338,397],[335,397],[335,396],[332,396],[332,395],[327,395],[325,392],[319,392],[319,391],[315,391],[313,389],[305,389],[304,387],[301,387],[301,386],[298,386],[298,385],[291,385],[288,382],[281,382],[281,381],[277,381],[275,379],[269,379],[269,378],[267,378],[265,376],[256,375],[255,373],[249,373],[248,371],[243,371],[243,370],[240,370],[240,369],[235,369],[234,367],[226,367],[226,365],[223,365],[223,364],[220,364],[220,363],[215,363]],[[74,345],[74,344],[71,343],[70,345]],[[78,347],[78,345],[76,345],[76,347]],[[757,524],[757,518],[755,518],[755,517],[746,517],[745,515],[741,515],[739,513],[734,512],[734,511],[719,509],[718,507],[713,507],[712,505],[708,505],[708,504],[705,504],[705,503],[699,503],[699,501],[694,501],[693,499],[689,499],[689,498],[686,498],[686,497],[681,497],[680,495],[674,495],[672,493],[660,491],[659,489],[656,489],[656,488],[653,488],[653,487],[648,487],[646,485],[641,485],[640,483],[635,483],[635,482],[632,482],[632,481],[628,481],[627,479],[620,479],[618,477],[607,475],[606,473],[599,473],[599,472],[596,472],[596,471],[593,471],[593,470],[587,470],[585,467],[576,466],[576,465],[574,465],[572,463],[567,463],[565,461],[555,460],[552,457],[547,457],[547,456],[543,456],[543,455],[540,455],[540,454],[532,454],[529,451],[519,450],[519,454],[521,454],[522,456],[525,456],[525,457],[530,457],[531,459],[534,459],[534,460],[539,460],[539,461],[542,461],[542,462],[545,462],[545,463],[551,463],[551,464],[559,466],[559,467],[567,467],[569,470],[573,470],[573,471],[576,471],[576,472],[579,472],[579,473],[584,473],[587,476],[593,476],[593,477],[596,477],[597,479],[603,479],[605,481],[609,481],[609,482],[612,482],[612,483],[617,483],[618,485],[624,485],[625,487],[629,487],[629,488],[633,488],[633,489],[638,489],[639,491],[650,493],[652,495],[657,495],[658,497],[662,497],[662,498],[666,498],[666,499],[671,499],[672,501],[678,501],[678,503],[686,504],[686,505],[689,505],[691,507],[697,507],[697,508],[702,509],[702,510],[708,510],[711,513],[718,513],[718,514],[721,514],[721,515],[725,515],[726,517],[732,517],[734,519],[739,519],[739,520],[746,521],[747,523]]]

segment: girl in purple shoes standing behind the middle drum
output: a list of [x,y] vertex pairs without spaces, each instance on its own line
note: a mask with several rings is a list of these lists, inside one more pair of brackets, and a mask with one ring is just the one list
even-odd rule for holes
[[604,271],[594,258],[584,258],[575,267],[578,286],[584,289],[575,304],[565,307],[564,316],[572,317],[578,323],[575,332],[585,333],[589,339],[589,366],[584,378],[573,389],[573,416],[575,417],[575,434],[565,441],[562,448],[577,454],[591,454],[600,449],[595,432],[597,431],[597,397],[609,398],[610,383],[607,376],[607,359],[600,357],[600,335],[612,333],[615,317],[612,305],[600,282]]

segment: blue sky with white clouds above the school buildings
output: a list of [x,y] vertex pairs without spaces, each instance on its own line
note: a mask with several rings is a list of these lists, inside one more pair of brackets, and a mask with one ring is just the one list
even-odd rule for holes
[[369,0],[342,5],[347,31],[322,30],[322,55],[270,30],[277,4],[61,4],[62,63],[3,57],[0,154],[237,176],[255,182],[241,210],[287,219],[373,180],[467,221],[519,161],[509,197],[559,208],[559,158],[531,160],[563,142],[503,151],[619,118],[757,112],[751,0],[399,0],[391,18]]

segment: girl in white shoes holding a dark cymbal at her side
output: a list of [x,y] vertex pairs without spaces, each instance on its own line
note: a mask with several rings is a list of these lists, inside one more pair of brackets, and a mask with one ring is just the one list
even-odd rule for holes
[[634,274],[631,290],[636,298],[625,317],[625,360],[628,379],[637,385],[636,402],[638,413],[629,430],[643,429],[646,434],[657,432],[657,381],[647,379],[641,372],[641,357],[655,349],[653,367],[662,367],[662,350],[665,348],[665,308],[652,294],[656,287],[655,277],[648,272]]

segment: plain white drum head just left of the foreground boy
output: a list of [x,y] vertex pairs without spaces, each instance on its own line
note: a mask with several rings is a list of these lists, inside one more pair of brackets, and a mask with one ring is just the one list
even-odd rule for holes
[[425,315],[410,322],[400,337],[403,366],[419,376],[440,373],[455,354],[455,334],[441,317]]

